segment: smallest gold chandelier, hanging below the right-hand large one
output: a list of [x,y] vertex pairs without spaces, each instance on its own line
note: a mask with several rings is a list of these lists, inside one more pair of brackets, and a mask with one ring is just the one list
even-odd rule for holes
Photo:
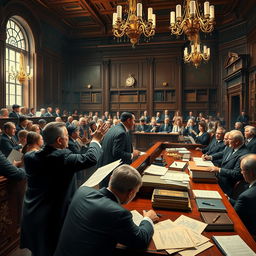
[[210,48],[206,45],[203,47],[203,52],[201,52],[200,44],[191,44],[191,52],[188,52],[188,47],[184,49],[184,62],[192,64],[197,68],[201,61],[208,61],[210,59]]

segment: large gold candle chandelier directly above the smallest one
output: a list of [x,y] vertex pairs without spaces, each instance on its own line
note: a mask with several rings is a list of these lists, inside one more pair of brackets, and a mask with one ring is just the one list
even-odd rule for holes
[[200,12],[198,0],[185,0],[184,14],[181,5],[176,5],[176,12],[170,12],[171,34],[186,34],[190,41],[198,41],[199,31],[210,33],[214,29],[214,6],[204,2],[204,11]]

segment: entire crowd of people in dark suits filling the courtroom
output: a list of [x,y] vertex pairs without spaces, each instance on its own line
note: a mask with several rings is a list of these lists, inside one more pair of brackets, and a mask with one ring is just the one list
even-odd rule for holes
[[[155,212],[144,212],[144,221],[138,227],[131,214],[120,206],[131,201],[141,186],[140,175],[128,166],[140,155],[131,141],[135,116],[117,112],[112,118],[106,111],[99,118],[98,112],[83,116],[75,112],[66,122],[56,116],[55,122],[46,124],[42,116],[39,124],[33,124],[27,118],[30,115],[21,114],[19,106],[14,105],[13,112],[10,116],[18,118],[17,126],[7,121],[2,128],[0,175],[27,179],[21,248],[29,248],[33,256],[79,256],[84,251],[94,255],[96,249],[111,255],[117,242],[146,247],[153,234],[152,221],[157,220]],[[51,112],[48,107],[48,115]],[[204,145],[197,150],[202,151],[204,160],[213,161],[209,170],[216,174],[241,219],[256,235],[256,208],[251,205],[256,200],[256,128],[248,125],[245,113],[241,116],[238,122],[242,123],[242,130],[226,132],[220,115],[213,119],[203,114],[194,117],[190,112],[183,118],[177,111],[170,117],[165,110],[163,115],[157,112],[156,117],[150,118],[144,111],[135,130],[176,132]],[[7,157],[13,149],[22,151],[24,157],[12,164]],[[108,176],[102,181],[101,190],[83,186],[77,190],[85,173],[88,178],[97,168],[118,159],[123,165],[114,173],[116,177]],[[243,183],[243,192],[236,195],[234,188],[239,182]],[[81,214],[84,212],[89,219]],[[90,239],[85,242],[84,237]],[[98,242],[102,243],[101,248],[95,245]]]

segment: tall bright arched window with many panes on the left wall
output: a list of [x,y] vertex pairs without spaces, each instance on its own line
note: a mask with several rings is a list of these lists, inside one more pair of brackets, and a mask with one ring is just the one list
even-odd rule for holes
[[[30,47],[27,33],[21,23],[10,18],[6,27],[6,106],[24,105],[24,81],[18,79],[21,63],[25,74],[30,73]],[[26,90],[27,91],[27,90]]]

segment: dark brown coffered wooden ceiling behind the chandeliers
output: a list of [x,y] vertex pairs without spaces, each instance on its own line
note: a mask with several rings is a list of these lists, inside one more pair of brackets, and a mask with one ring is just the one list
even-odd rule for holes
[[[35,0],[73,38],[111,35],[112,14],[127,0]],[[168,32],[169,13],[182,0],[143,0],[144,12],[153,7],[157,33]],[[204,0],[199,0],[203,3]],[[243,18],[254,0],[210,0],[215,5],[217,27]],[[243,10],[243,11],[241,11]]]

